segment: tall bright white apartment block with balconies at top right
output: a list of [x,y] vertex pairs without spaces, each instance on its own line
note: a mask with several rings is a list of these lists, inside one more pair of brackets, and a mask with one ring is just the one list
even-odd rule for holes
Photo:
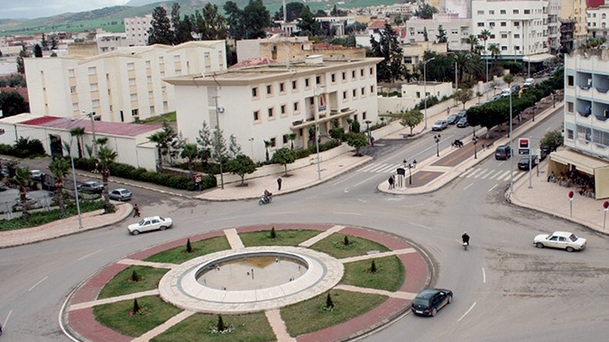
[[[497,44],[501,58],[522,60],[549,52],[547,0],[473,0],[472,31],[491,32],[486,46]],[[539,60],[531,60],[539,61]]]

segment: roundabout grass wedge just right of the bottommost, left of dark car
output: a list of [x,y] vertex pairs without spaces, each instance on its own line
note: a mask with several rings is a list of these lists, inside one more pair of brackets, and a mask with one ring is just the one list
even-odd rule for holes
[[377,294],[332,290],[330,296],[334,308],[327,310],[327,295],[328,292],[281,309],[281,318],[291,337],[335,326],[372,310],[387,300],[387,297]]

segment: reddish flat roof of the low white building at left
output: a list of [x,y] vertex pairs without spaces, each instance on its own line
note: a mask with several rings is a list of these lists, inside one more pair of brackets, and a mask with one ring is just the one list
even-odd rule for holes
[[[70,130],[75,127],[84,127],[85,132],[91,132],[91,120],[89,118],[72,119],[69,117],[43,116],[36,119],[24,121],[21,125],[32,125],[49,128]],[[137,136],[156,131],[161,128],[160,124],[126,124],[108,123],[105,121],[95,122],[96,134]]]

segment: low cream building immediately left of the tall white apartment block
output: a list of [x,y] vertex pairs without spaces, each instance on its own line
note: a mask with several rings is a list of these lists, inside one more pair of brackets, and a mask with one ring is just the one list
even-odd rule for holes
[[458,14],[433,14],[432,19],[411,18],[406,21],[406,40],[408,42],[437,42],[439,26],[447,34],[448,49],[452,51],[469,50],[465,39],[471,32],[471,20],[462,19]]

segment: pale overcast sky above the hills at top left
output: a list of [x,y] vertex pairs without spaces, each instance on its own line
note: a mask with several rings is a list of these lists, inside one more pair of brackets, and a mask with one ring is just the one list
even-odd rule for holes
[[63,13],[90,11],[129,0],[0,0],[0,19],[40,18]]

